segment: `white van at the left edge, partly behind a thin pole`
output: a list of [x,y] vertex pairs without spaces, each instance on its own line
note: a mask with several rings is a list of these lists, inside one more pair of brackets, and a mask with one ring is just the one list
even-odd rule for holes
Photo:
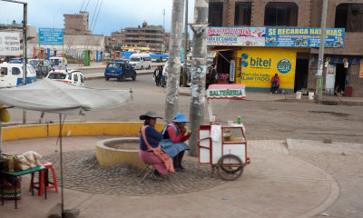
[[[26,64],[26,84],[36,81],[36,72],[31,64]],[[0,88],[23,84],[23,64],[0,64]]]

